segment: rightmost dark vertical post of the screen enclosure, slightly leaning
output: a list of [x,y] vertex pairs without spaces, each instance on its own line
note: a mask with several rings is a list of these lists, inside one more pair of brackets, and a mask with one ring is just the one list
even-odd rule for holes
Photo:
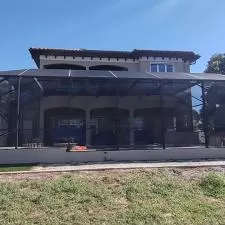
[[207,115],[207,106],[206,106],[206,99],[205,99],[205,84],[202,81],[201,84],[202,88],[202,113],[203,113],[203,125],[204,125],[204,134],[205,134],[205,147],[209,147],[209,129],[208,129],[208,115]]

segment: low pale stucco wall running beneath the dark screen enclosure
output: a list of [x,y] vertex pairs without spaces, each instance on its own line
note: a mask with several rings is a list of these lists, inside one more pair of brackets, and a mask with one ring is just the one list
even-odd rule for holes
[[166,150],[66,152],[65,149],[1,150],[0,164],[83,163],[105,161],[156,161],[224,159],[224,148],[173,148]]

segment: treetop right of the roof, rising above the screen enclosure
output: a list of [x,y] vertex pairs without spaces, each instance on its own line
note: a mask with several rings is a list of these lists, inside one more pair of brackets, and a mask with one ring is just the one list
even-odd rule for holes
[[225,53],[213,55],[208,61],[205,73],[225,74]]

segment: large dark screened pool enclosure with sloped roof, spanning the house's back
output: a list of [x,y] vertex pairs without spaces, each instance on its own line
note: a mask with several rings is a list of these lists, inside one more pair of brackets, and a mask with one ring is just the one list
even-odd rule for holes
[[[0,145],[76,143],[118,150],[221,147],[224,84],[220,74],[3,71]],[[193,95],[194,87],[200,97]]]

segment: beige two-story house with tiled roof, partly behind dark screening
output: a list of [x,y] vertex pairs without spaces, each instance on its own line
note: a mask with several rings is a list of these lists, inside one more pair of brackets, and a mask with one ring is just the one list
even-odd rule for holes
[[[167,76],[174,72],[188,73],[190,65],[199,58],[193,52],[136,49],[102,51],[30,48],[30,53],[39,69],[88,70],[95,71],[93,73],[96,74],[100,71],[110,71],[113,75],[114,71],[127,71],[126,74],[165,73]],[[54,86],[54,81],[51,83]],[[71,88],[67,81],[62,80],[60,85],[61,88]],[[85,87],[87,93],[75,91],[81,85]],[[147,90],[150,86],[141,82],[130,84],[127,81],[113,86],[109,82],[101,81],[95,84],[101,91],[98,94],[95,92],[91,94],[93,85],[88,84],[88,79],[81,82],[79,87],[78,84],[73,84],[69,100],[68,93],[65,95],[59,91],[48,95],[46,90],[46,94],[39,100],[38,118],[31,117],[29,110],[23,115],[21,126],[26,132],[22,142],[26,142],[28,137],[34,138],[35,133],[45,145],[66,142],[68,137],[87,146],[160,143],[162,127],[160,96],[157,92],[143,94],[142,90]],[[57,89],[56,86],[55,88]],[[111,89],[118,89],[117,95],[110,94]],[[120,93],[120,89],[126,90],[125,94]],[[155,89],[157,90],[157,86]],[[172,130],[185,136],[185,132],[192,131],[190,106],[184,106],[171,96],[165,96],[164,115],[165,132]],[[36,126],[38,124],[40,132],[33,131],[35,124]],[[179,137],[177,134],[174,136]]]

